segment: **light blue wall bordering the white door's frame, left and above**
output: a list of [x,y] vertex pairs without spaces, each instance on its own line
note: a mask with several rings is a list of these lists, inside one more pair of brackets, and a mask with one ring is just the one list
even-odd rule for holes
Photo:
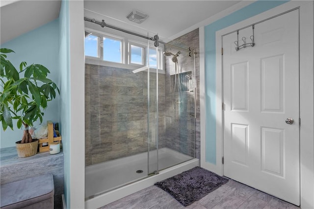
[[206,162],[216,164],[216,31],[286,3],[259,0],[205,26]]

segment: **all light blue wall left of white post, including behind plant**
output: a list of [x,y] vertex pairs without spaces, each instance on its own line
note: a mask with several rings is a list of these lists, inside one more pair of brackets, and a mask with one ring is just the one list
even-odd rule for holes
[[[50,71],[50,78],[60,89],[60,96],[48,104],[44,121],[53,120],[60,123],[60,133],[64,152],[64,194],[67,208],[70,207],[70,54],[69,54],[69,2],[61,1],[59,18],[33,31],[19,36],[1,45],[16,53],[8,55],[14,66],[22,61],[28,64],[38,63]],[[15,146],[15,141],[22,138],[22,130],[14,131],[1,127],[0,147]]]

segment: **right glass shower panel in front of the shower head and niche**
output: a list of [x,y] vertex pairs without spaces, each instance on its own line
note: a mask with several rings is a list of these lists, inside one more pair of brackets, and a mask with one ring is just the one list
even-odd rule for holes
[[[189,37],[168,41],[188,49]],[[159,133],[159,170],[195,158],[195,57],[193,53],[164,47],[164,130]]]

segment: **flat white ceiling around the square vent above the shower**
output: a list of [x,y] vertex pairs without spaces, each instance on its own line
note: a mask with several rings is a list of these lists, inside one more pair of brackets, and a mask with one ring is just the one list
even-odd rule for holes
[[[135,32],[171,39],[196,23],[235,5],[239,0],[85,0],[84,15]],[[126,16],[136,9],[149,15],[143,23]],[[145,33],[144,33],[145,35]]]

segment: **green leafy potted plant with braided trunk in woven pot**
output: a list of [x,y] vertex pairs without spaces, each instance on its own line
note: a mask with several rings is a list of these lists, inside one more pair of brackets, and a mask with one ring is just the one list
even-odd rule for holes
[[[16,142],[18,156],[28,157],[37,153],[38,139],[32,139],[29,127],[38,119],[42,123],[47,102],[59,92],[56,84],[47,78],[50,71],[39,64],[20,64],[20,71],[7,59],[8,48],[0,49],[0,121],[5,131],[13,130],[13,120],[17,127],[25,127],[21,141]],[[24,76],[22,76],[24,74]],[[21,148],[22,147],[22,148]],[[29,153],[28,153],[29,151]]]

